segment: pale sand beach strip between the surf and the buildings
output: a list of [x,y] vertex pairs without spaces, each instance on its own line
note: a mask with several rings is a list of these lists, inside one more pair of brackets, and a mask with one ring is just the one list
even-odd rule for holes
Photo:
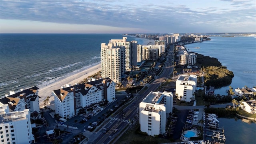
[[47,98],[47,96],[50,96],[49,101],[54,100],[54,97],[52,96],[53,90],[58,90],[61,88],[61,86],[65,86],[66,84],[75,84],[84,78],[87,78],[88,76],[91,76],[98,71],[101,70],[101,64],[97,64],[95,66],[92,66],[91,68],[88,68],[86,70],[83,70],[82,72],[78,72],[77,74],[74,74],[72,76],[69,76],[67,78],[64,78],[62,80],[58,80],[44,88],[40,88],[38,90],[38,95],[41,97],[39,99],[39,105],[40,107],[43,107],[44,100]]

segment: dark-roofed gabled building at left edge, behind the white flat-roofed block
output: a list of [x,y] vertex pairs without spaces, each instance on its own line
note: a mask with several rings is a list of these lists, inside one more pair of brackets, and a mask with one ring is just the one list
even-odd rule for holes
[[39,96],[38,87],[34,86],[26,90],[21,89],[20,92],[10,92],[11,95],[0,99],[0,106],[8,104],[10,112],[22,111],[29,109],[30,113],[39,113]]

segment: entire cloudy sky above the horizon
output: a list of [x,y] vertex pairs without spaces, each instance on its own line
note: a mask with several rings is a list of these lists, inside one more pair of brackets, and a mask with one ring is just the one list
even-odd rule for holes
[[256,32],[256,0],[0,0],[0,33]]

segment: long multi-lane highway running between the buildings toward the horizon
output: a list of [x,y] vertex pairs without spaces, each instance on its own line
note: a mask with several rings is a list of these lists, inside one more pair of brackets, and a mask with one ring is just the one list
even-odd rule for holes
[[[171,45],[169,48],[168,55],[166,56],[166,62],[163,66],[162,72],[155,78],[155,80],[146,84],[148,87],[143,94],[136,94],[135,98],[133,98],[133,102],[130,102],[126,108],[123,109],[122,114],[117,114],[114,116],[108,124],[104,126],[104,128],[109,128],[109,130],[104,133],[104,129],[100,130],[97,133],[96,138],[89,137],[88,144],[109,144],[119,132],[121,132],[128,124],[130,124],[131,120],[138,120],[138,109],[140,102],[151,92],[156,91],[157,88],[164,82],[166,78],[170,77],[170,74],[173,72],[174,66],[172,65],[173,60],[173,48]],[[129,102],[129,101],[128,101]],[[116,132],[113,132],[114,129],[118,129]]]

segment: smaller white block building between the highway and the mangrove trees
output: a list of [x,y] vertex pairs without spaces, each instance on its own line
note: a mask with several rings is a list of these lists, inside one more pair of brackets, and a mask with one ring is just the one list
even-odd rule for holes
[[197,76],[196,75],[180,75],[176,81],[176,96],[179,100],[190,102],[194,99],[196,92]]

